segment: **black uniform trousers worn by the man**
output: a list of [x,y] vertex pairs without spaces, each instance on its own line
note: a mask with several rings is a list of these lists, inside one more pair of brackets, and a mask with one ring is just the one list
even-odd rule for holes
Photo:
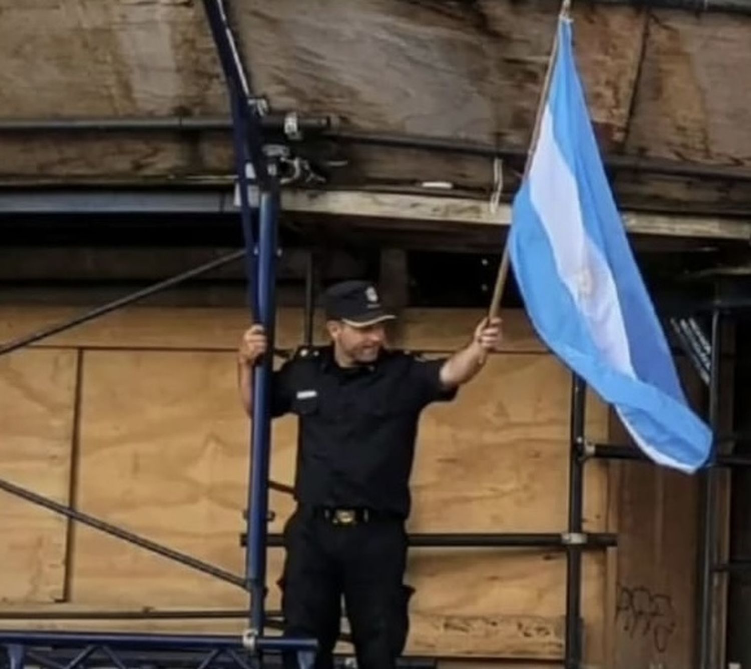
[[[285,636],[315,637],[315,669],[333,667],[342,596],[358,669],[393,669],[409,630],[412,588],[403,584],[404,521],[379,518],[356,525],[298,509],[284,532],[287,550],[279,586]],[[298,669],[285,655],[285,669]]]

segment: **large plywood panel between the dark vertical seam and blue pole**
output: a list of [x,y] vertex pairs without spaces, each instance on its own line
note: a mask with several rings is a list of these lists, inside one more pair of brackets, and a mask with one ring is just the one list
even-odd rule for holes
[[[89,353],[80,507],[240,573],[248,426],[236,383],[231,354]],[[93,530],[77,535],[74,601],[241,605],[236,590]]]

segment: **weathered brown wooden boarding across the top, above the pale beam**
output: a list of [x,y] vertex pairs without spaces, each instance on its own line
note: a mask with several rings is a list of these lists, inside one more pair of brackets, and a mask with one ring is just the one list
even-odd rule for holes
[[[272,107],[336,113],[345,129],[528,147],[559,2],[306,6],[230,4],[254,85]],[[751,164],[749,92],[735,74],[749,66],[751,20],[575,5],[574,21],[575,55],[602,149]],[[4,118],[227,113],[199,3],[5,0],[0,59]],[[311,150],[335,188],[409,191],[426,179],[452,182],[463,195],[487,197],[492,188],[487,158],[362,146]],[[2,134],[0,152],[0,179],[11,183],[211,183],[234,171],[228,133]],[[507,194],[519,170],[507,166]],[[616,191],[619,203],[639,209],[751,212],[743,182],[712,179],[694,189],[685,180],[622,171]]]

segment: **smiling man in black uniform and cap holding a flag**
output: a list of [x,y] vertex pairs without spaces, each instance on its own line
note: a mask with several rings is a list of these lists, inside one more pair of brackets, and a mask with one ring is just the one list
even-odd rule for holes
[[[341,599],[359,669],[392,669],[408,631],[412,589],[403,583],[409,476],[418,418],[431,402],[453,399],[500,339],[498,319],[478,325],[451,357],[423,360],[385,348],[382,308],[366,282],[342,282],[325,295],[331,344],[302,348],[275,372],[273,416],[300,419],[295,498],[285,526],[279,586],[285,634],[315,637],[316,669],[333,666]],[[240,345],[240,395],[252,414],[252,369],[264,354],[263,327]],[[294,657],[285,666],[295,667]]]

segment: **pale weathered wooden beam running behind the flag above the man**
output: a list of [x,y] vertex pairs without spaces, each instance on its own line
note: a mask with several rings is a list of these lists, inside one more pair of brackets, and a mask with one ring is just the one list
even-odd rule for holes
[[[508,204],[491,212],[483,200],[436,195],[288,190],[282,194],[282,207],[288,213],[300,215],[427,222],[434,224],[436,231],[446,224],[511,225],[511,206]],[[745,242],[751,239],[751,221],[646,212],[625,212],[623,221],[630,234]],[[394,227],[397,227],[396,223]]]

